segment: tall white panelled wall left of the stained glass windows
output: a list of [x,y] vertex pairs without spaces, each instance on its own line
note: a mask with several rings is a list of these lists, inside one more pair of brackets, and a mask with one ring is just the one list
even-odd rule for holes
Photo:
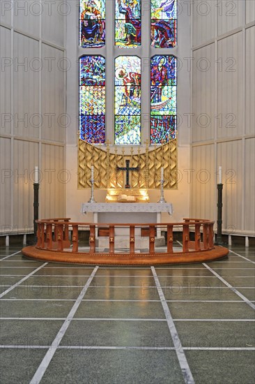
[[65,8],[1,1],[0,235],[33,232],[39,217],[65,216]]

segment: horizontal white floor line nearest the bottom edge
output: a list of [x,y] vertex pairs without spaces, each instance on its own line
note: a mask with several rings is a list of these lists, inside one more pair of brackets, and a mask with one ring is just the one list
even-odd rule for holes
[[[49,346],[0,346],[2,349],[47,349]],[[59,346],[58,349],[96,349],[96,350],[176,350],[175,347],[167,346]],[[255,347],[183,347],[183,350],[255,350]]]

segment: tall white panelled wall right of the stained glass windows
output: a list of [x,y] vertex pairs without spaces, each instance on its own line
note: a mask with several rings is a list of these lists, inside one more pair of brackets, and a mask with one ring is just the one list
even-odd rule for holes
[[[255,235],[254,1],[194,1],[191,216],[217,220],[222,165],[223,232]],[[206,6],[207,4],[207,6]],[[215,226],[216,227],[216,226]]]

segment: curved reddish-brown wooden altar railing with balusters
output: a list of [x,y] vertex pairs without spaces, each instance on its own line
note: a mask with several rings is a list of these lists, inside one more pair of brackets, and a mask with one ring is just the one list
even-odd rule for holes
[[[214,221],[206,219],[183,219],[183,223],[76,223],[70,218],[42,219],[38,224],[36,244],[37,249],[48,251],[64,251],[79,253],[79,235],[81,231],[88,230],[88,253],[97,253],[95,246],[98,227],[109,228],[109,254],[114,254],[115,229],[129,228],[129,253],[134,254],[135,229],[149,228],[148,249],[149,253],[155,253],[155,233],[158,227],[167,232],[167,253],[177,253],[173,250],[173,242],[178,232],[183,232],[183,252],[210,251],[213,244]],[[193,240],[190,234],[193,233]],[[176,236],[177,238],[177,236]],[[84,253],[84,249],[82,249]],[[102,252],[101,252],[102,253]],[[128,253],[128,252],[125,252]],[[148,253],[148,252],[146,252]],[[140,253],[142,254],[142,253]]]

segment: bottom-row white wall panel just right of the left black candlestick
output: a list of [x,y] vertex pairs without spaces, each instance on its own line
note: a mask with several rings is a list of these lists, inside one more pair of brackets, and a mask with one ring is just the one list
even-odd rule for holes
[[42,145],[40,217],[65,216],[65,184],[70,182],[72,176],[63,167],[63,160],[63,147]]

